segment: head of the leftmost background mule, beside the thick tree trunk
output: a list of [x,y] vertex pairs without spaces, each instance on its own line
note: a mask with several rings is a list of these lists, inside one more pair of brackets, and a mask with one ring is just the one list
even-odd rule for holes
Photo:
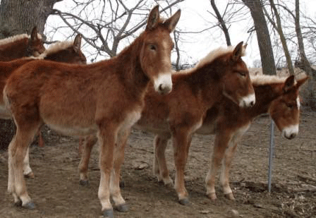
[[30,39],[28,40],[28,55],[27,56],[39,56],[45,51],[42,36],[37,32],[37,28],[34,27],[31,32]]

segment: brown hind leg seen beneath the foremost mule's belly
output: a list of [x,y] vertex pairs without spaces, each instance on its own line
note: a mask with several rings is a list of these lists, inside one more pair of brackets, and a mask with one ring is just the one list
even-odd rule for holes
[[78,166],[79,174],[80,174],[80,185],[87,186],[89,183],[89,178],[87,176],[87,170],[89,166],[89,160],[91,156],[92,147],[97,143],[96,135],[88,135],[85,137],[83,143],[83,150],[81,152],[80,163]]

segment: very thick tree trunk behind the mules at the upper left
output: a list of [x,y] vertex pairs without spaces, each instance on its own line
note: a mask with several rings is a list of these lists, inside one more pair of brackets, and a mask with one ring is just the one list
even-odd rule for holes
[[54,4],[62,0],[1,0],[0,39],[28,32],[36,25],[39,33]]

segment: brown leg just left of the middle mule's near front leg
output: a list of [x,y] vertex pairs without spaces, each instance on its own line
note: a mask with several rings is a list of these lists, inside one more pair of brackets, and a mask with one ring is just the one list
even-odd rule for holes
[[165,150],[168,145],[168,140],[171,135],[156,135],[154,138],[154,164],[153,172],[157,176],[158,181],[164,181],[164,185],[169,186],[173,184],[169,176],[169,170],[166,166]]

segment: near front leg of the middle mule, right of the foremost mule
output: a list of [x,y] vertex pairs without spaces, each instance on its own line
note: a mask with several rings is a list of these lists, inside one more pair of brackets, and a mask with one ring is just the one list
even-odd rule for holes
[[188,159],[188,149],[191,136],[185,128],[175,129],[173,131],[174,140],[174,161],[176,166],[176,179],[174,188],[178,194],[178,200],[181,205],[187,205],[188,191],[184,184],[184,170]]

